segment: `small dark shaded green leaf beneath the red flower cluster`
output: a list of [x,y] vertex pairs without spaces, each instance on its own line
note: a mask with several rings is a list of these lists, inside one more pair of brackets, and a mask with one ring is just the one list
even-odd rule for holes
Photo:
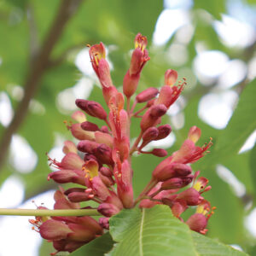
[[72,256],[103,256],[105,253],[108,253],[113,247],[113,240],[109,233],[104,234],[103,236],[96,238],[90,243],[85,244],[83,247],[80,247],[75,252],[71,253]]

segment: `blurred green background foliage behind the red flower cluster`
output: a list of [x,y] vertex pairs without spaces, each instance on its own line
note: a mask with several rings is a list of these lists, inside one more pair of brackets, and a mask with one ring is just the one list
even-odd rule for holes
[[[0,40],[0,89],[9,94],[13,108],[18,105],[17,99],[8,90],[10,84],[23,86],[26,73],[29,70],[29,62],[32,58],[32,48],[40,47],[47,35],[49,26],[55,18],[56,9],[60,1],[39,1],[39,0],[19,0],[0,1],[0,34],[4,35]],[[247,3],[254,4],[252,0]],[[233,113],[230,123],[224,130],[217,130],[207,125],[198,117],[198,104],[202,96],[214,90],[216,84],[206,87],[200,82],[189,88],[189,83],[193,84],[195,76],[191,75],[193,61],[196,56],[196,45],[203,42],[207,49],[217,49],[224,51],[230,59],[240,58],[243,61],[250,61],[253,54],[245,57],[245,53],[250,49],[229,48],[218,38],[217,32],[212,26],[212,21],[221,19],[221,14],[227,13],[227,1],[204,1],[195,0],[190,9],[192,24],[195,27],[193,36],[188,44],[189,56],[183,66],[178,66],[168,57],[169,46],[173,44],[175,35],[163,46],[152,45],[152,38],[156,21],[164,9],[162,1],[119,1],[119,0],[94,0],[84,1],[74,17],[69,20],[61,40],[55,45],[52,54],[53,60],[61,61],[58,65],[49,68],[44,73],[44,78],[38,90],[36,100],[44,108],[44,114],[29,111],[26,119],[20,127],[19,134],[25,137],[38,155],[38,164],[33,172],[21,174],[10,162],[7,161],[0,172],[0,182],[15,173],[26,185],[26,199],[38,193],[55,188],[55,184],[47,181],[47,174],[50,172],[47,166],[45,152],[55,146],[55,134],[61,133],[63,137],[71,138],[63,120],[70,120],[69,113],[61,113],[56,106],[56,97],[61,90],[72,87],[83,77],[75,67],[74,56],[80,49],[84,49],[86,44],[104,42],[109,47],[109,59],[113,63],[113,82],[119,87],[122,84],[124,74],[129,66],[130,56],[128,51],[133,48],[132,40],[137,32],[142,32],[148,37],[148,49],[151,61],[143,70],[139,91],[148,86],[160,86],[163,83],[164,73],[167,68],[175,68],[180,78],[187,77],[188,86],[183,91],[183,96],[187,100],[183,109],[185,117],[184,126],[173,133],[176,142],[172,148],[168,149],[171,154],[180,147],[183,139],[191,125],[197,125],[202,130],[202,137],[199,144],[207,142],[209,137],[213,137],[214,146],[212,153],[200,160],[193,167],[200,169],[204,176],[210,180],[212,190],[207,194],[207,200],[212,206],[216,206],[215,215],[209,223],[208,236],[218,237],[225,243],[239,244],[243,249],[250,250],[253,238],[249,236],[244,227],[244,218],[249,213],[248,205],[255,206],[254,195],[256,186],[255,170],[255,146],[243,154],[238,154],[242,144],[247,137],[255,130],[255,102],[256,102],[256,82],[246,84],[242,81],[232,90],[240,94],[240,100]],[[205,20],[205,15],[201,11],[210,15],[212,21]],[[32,15],[32,21],[27,19],[27,12]],[[31,19],[30,19],[31,20]],[[32,22],[32,24],[31,24]],[[31,26],[35,26],[35,32],[31,31]],[[178,31],[177,31],[178,32]],[[30,38],[33,38],[34,42]],[[32,45],[35,44],[35,45]],[[254,43],[255,44],[255,43]],[[64,56],[64,57],[63,57]],[[189,75],[187,72],[189,70]],[[83,98],[83,95],[79,96]],[[103,105],[101,90],[94,86],[90,94],[90,99],[101,102]],[[192,118],[191,118],[192,117]],[[170,122],[166,119],[166,123]],[[138,120],[131,125],[131,137],[137,136]],[[172,124],[171,124],[172,125]],[[0,135],[3,134],[4,127],[0,125]],[[54,156],[53,156],[54,157]],[[135,193],[138,194],[143,186],[148,183],[151,172],[160,159],[149,155],[139,156],[133,160]],[[223,165],[247,188],[247,194],[238,197],[231,189],[229,183],[220,179],[216,173],[216,166]],[[248,238],[249,237],[249,238]],[[255,250],[255,249],[254,249]],[[49,248],[41,248],[41,255],[46,255]]]

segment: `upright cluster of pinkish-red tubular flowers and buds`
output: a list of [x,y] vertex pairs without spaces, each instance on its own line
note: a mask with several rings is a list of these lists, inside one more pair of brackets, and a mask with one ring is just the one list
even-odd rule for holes
[[[55,193],[55,209],[79,209],[80,203],[94,201],[93,206],[102,214],[96,221],[90,217],[55,217],[31,220],[38,227],[41,236],[53,245],[57,252],[72,252],[84,243],[101,236],[108,229],[108,219],[123,208],[154,207],[165,204],[172,213],[181,219],[181,214],[190,206],[196,206],[196,212],[186,221],[191,230],[206,233],[207,220],[212,214],[210,203],[202,193],[211,189],[205,177],[193,174],[189,164],[199,160],[212,142],[203,147],[195,143],[201,137],[201,130],[193,126],[188,138],[179,150],[168,156],[155,167],[152,178],[142,193],[134,200],[132,188],[131,156],[153,154],[166,157],[163,148],[144,151],[148,143],[167,137],[172,128],[160,125],[161,117],[181,94],[185,79],[177,82],[177,72],[169,69],[165,74],[165,84],[159,89],[150,87],[133,97],[144,65],[149,60],[147,38],[140,33],[135,38],[135,49],[131,55],[131,64],[123,81],[123,93],[113,85],[110,68],[106,60],[104,45],[90,47],[90,61],[102,84],[102,94],[108,105],[108,112],[98,102],[84,99],[76,100],[79,111],[73,113],[76,123],[67,125],[73,137],[79,140],[75,144],[65,142],[65,156],[58,162],[49,158],[50,165],[58,170],[49,173],[49,179],[56,183],[73,183],[67,190]],[[125,107],[126,99],[126,107]],[[143,107],[135,112],[138,105]],[[87,121],[85,113],[101,119],[104,125]],[[141,119],[137,140],[130,145],[131,118]],[[191,184],[191,185],[189,185]],[[183,189],[188,186],[188,189]],[[180,190],[182,189],[182,190]]]

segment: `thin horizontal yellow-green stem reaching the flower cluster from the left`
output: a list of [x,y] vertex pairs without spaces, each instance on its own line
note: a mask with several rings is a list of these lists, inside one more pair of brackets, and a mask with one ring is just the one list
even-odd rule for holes
[[63,209],[63,210],[44,210],[44,209],[8,209],[0,208],[0,215],[18,216],[99,216],[102,215],[95,209]]

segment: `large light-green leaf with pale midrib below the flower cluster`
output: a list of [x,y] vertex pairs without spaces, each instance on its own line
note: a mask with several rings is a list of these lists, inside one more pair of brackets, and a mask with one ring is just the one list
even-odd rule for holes
[[107,256],[247,255],[189,230],[169,207],[124,210],[110,219],[114,244]]

